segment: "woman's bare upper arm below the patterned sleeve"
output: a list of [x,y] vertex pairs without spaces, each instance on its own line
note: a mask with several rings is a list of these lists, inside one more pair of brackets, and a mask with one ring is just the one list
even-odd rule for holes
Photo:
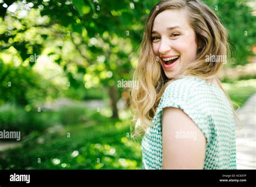
[[163,169],[203,169],[206,138],[181,109],[163,110]]

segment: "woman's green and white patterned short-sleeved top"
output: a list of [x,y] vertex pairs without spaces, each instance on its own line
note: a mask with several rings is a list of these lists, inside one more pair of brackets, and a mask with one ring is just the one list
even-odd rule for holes
[[142,169],[163,169],[161,118],[165,107],[180,108],[204,133],[204,169],[237,169],[231,104],[223,90],[196,77],[180,78],[166,87],[142,139]]

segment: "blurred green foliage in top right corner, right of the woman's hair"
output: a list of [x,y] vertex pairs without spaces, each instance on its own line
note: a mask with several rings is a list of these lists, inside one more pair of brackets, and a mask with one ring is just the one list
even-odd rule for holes
[[248,56],[254,55],[252,47],[256,41],[256,16],[252,16],[248,1],[207,0],[205,3],[217,13],[227,27],[233,57],[228,66],[248,63]]

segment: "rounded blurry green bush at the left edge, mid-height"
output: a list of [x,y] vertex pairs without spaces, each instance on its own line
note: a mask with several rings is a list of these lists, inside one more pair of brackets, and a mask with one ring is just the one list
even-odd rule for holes
[[[57,97],[59,85],[43,81],[42,75],[30,66],[15,66],[12,62],[3,62],[0,55],[0,104],[16,103],[30,107],[45,102],[45,96]],[[59,96],[62,96],[59,94]]]

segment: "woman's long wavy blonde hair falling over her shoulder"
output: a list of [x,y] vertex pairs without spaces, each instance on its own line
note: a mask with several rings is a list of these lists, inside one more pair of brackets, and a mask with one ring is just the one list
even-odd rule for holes
[[[176,77],[169,80],[157,56],[153,53],[151,30],[153,21],[160,12],[181,9],[188,11],[190,26],[196,33],[197,55],[196,60],[182,68]],[[200,1],[169,0],[156,4],[146,20],[143,40],[140,44],[138,67],[133,74],[133,81],[138,81],[139,87],[130,90],[131,112],[134,115],[130,126],[131,136],[139,138],[145,133],[147,127],[151,126],[151,120],[165,88],[173,80],[180,77],[196,76],[206,81],[215,78],[219,87],[232,103],[220,81],[215,77],[223,63],[206,61],[206,55],[229,55],[229,49],[226,28],[220,23],[215,13],[204,3]],[[230,59],[229,56],[227,56],[227,59]],[[235,118],[239,120],[234,108],[233,112]]]

